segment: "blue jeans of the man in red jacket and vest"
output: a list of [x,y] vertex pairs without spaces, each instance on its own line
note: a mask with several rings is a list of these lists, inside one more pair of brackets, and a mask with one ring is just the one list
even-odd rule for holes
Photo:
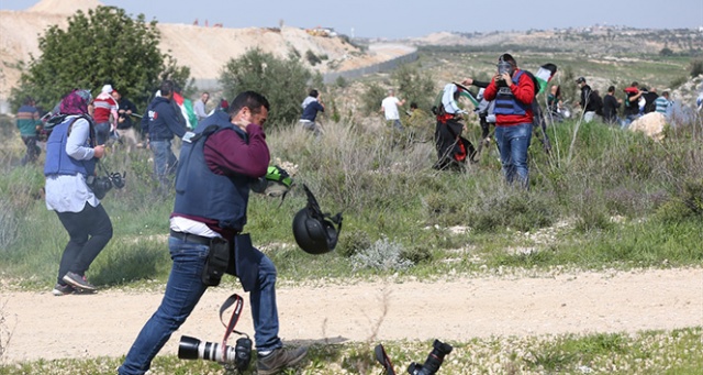
[[512,184],[515,176],[521,185],[528,186],[527,148],[532,140],[532,122],[512,126],[495,126],[495,142],[501,151],[501,164],[505,180]]

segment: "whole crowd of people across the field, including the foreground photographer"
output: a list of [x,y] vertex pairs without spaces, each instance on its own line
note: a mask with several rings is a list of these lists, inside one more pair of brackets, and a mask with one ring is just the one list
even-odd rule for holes
[[[469,111],[462,109],[459,98],[465,96],[476,107],[481,144],[494,140],[498,146],[506,184],[528,188],[527,151],[533,134],[537,132],[549,153],[546,119],[568,117],[560,86],[548,85],[556,73],[556,65],[545,64],[533,74],[505,53],[499,56],[490,81],[465,78],[460,84],[447,84],[433,109],[437,152],[434,167],[454,169],[475,159],[478,151],[462,136]],[[585,77],[578,77],[576,85],[580,96],[574,106],[587,123],[600,118],[607,124],[626,126],[650,112],[666,117],[671,113],[668,91],[659,96],[656,89],[633,82],[623,89],[623,98],[618,98],[614,86],[601,98]],[[470,92],[468,86],[478,87],[478,95]],[[539,103],[540,93],[547,98],[546,114]],[[121,142],[127,150],[146,144],[153,154],[154,179],[159,191],[175,191],[169,218],[170,276],[160,306],[138,332],[119,368],[122,375],[146,373],[208,287],[219,283],[219,278],[212,284],[203,275],[210,272],[212,254],[223,246],[230,254],[239,252],[237,262],[241,258],[247,262],[247,271],[239,273],[230,257],[226,273],[238,277],[250,293],[258,373],[276,374],[297,365],[306,355],[304,348],[283,349],[278,335],[276,266],[242,235],[252,184],[267,174],[270,163],[264,131],[270,104],[263,95],[245,91],[232,102],[221,99],[208,112],[209,100],[210,93],[202,92],[193,103],[182,97],[175,82],[164,80],[142,115],[136,113],[132,101],[109,84],[94,98],[89,90],[72,90],[44,117],[46,124],[32,98],[26,98],[18,111],[16,125],[26,146],[23,165],[38,159],[40,133],[51,129],[44,162],[45,202],[69,236],[52,290],[55,296],[97,293],[86,274],[112,239],[113,228],[101,205],[103,196],[96,188],[94,177],[111,142]],[[405,102],[392,88],[381,101],[379,112],[393,131],[406,129],[401,121]],[[321,92],[310,90],[301,103],[300,126],[321,137],[324,132],[317,115],[324,112]],[[422,110],[413,102],[406,113],[408,121],[413,122]],[[141,118],[138,133],[133,118]],[[182,140],[179,157],[172,150],[176,137]]]

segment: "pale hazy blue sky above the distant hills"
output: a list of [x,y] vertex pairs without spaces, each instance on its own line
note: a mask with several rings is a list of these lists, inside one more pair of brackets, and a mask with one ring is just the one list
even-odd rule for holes
[[[62,0],[68,2],[71,0]],[[0,0],[24,10],[38,0]],[[225,27],[326,26],[365,37],[416,37],[439,31],[490,32],[594,24],[650,29],[703,26],[703,0],[101,0],[164,23]],[[185,5],[183,5],[185,4]]]

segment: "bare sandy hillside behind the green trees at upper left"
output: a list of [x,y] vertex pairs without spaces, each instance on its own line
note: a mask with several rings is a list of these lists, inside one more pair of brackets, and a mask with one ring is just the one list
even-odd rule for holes
[[[7,100],[10,88],[20,78],[19,65],[30,55],[38,56],[37,37],[47,26],[65,29],[67,18],[77,10],[87,12],[101,3],[97,0],[42,0],[25,11],[0,11],[0,101]],[[222,66],[249,48],[286,57],[292,51],[304,56],[312,51],[327,58],[314,67],[321,73],[346,70],[380,63],[402,54],[406,48],[371,49],[362,53],[339,37],[312,36],[304,30],[225,29],[190,24],[160,24],[160,48],[174,56],[179,65],[188,66],[196,79],[215,79]]]

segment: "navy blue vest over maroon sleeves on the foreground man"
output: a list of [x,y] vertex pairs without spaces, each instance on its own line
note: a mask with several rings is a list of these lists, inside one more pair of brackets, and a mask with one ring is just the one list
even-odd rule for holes
[[223,129],[234,130],[248,142],[246,133],[233,126],[228,119],[227,113],[217,111],[203,120],[194,132],[183,136],[178,158],[174,213],[217,220],[220,228],[241,231],[246,223],[249,183],[253,179],[213,173],[203,153],[208,137]]

